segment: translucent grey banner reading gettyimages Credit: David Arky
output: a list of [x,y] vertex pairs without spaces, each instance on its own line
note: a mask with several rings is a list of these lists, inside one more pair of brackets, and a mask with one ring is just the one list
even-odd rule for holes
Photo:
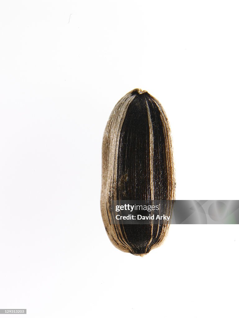
[[239,224],[239,200],[113,200],[113,224]]

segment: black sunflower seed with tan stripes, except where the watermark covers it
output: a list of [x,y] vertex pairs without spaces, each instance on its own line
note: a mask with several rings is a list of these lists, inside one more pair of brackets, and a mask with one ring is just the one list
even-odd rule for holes
[[101,213],[110,241],[143,256],[165,238],[166,224],[113,224],[112,200],[174,200],[172,141],[167,116],[148,92],[134,89],[114,107],[102,143]]

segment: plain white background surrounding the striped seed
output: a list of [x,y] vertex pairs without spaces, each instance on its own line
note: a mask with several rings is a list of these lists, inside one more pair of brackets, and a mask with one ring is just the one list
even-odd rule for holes
[[144,258],[100,213],[116,102],[169,118],[177,199],[238,199],[237,1],[1,1],[0,308],[35,317],[238,317],[237,225],[174,225]]

